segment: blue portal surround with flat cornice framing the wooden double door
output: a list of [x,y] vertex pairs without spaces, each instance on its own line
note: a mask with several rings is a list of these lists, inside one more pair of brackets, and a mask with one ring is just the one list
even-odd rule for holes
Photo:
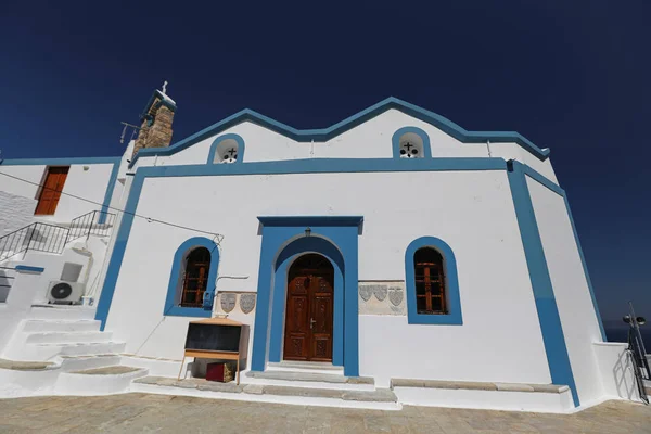
[[[261,250],[251,369],[280,361],[286,304],[286,272],[306,253],[327,257],[335,270],[332,362],[359,375],[358,245],[362,217],[259,217]],[[332,221],[331,221],[332,220]],[[347,221],[348,225],[342,225]],[[309,227],[311,233],[306,235]]]

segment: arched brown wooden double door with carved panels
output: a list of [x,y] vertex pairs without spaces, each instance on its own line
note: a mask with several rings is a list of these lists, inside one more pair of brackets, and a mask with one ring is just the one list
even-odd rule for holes
[[332,361],[334,268],[307,254],[288,273],[284,360]]

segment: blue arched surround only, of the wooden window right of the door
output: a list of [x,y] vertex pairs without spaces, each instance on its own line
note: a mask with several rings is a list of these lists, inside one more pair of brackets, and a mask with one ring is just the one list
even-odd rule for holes
[[[417,252],[421,248],[433,248],[443,257],[445,314],[419,314],[414,258]],[[407,319],[410,324],[463,324],[457,259],[452,250],[445,241],[435,237],[421,237],[409,244],[405,252],[405,284],[407,288]]]

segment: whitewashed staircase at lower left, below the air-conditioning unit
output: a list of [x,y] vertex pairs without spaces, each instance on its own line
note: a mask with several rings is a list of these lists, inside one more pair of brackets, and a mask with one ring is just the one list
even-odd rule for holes
[[[2,354],[0,397],[128,390],[148,370],[120,367],[125,343],[114,341],[111,332],[101,332],[100,326],[92,308],[31,307]],[[97,373],[98,369],[106,371]]]

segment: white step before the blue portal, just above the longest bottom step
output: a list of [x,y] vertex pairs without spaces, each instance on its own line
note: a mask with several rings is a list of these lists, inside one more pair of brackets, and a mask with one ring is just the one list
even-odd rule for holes
[[363,376],[344,376],[319,372],[292,371],[250,371],[246,376],[253,384],[279,385],[289,387],[318,387],[332,390],[374,391],[375,381]]

